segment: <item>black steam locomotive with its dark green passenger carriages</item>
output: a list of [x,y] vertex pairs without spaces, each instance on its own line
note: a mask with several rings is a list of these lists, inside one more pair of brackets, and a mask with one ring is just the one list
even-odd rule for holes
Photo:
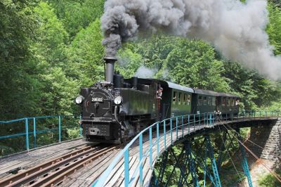
[[124,79],[114,73],[116,61],[114,57],[105,58],[106,80],[81,89],[76,98],[87,141],[121,143],[149,124],[177,115],[238,113],[238,96],[191,89],[160,79]]

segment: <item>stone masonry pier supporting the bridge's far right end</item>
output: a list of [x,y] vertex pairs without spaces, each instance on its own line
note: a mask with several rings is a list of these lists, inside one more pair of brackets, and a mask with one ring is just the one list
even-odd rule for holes
[[[252,141],[257,145],[255,146]],[[258,157],[272,160],[275,164],[281,162],[281,118],[270,124],[257,124],[251,127],[251,134],[247,142],[250,150]]]

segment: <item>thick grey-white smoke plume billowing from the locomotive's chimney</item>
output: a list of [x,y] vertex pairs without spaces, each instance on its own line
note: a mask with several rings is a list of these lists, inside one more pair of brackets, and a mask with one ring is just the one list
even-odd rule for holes
[[265,32],[266,0],[107,0],[102,17],[103,44],[114,56],[122,41],[140,31],[196,37],[213,43],[223,56],[281,78],[281,59]]

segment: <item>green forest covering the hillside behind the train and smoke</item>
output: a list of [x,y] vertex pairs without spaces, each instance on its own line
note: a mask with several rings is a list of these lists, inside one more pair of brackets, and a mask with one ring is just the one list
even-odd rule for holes
[[[0,120],[79,114],[74,98],[80,88],[104,79],[100,29],[104,3],[0,1]],[[268,13],[266,32],[278,56],[280,1],[268,0]],[[281,80],[273,81],[224,58],[212,44],[200,39],[140,33],[122,45],[117,58],[116,70],[124,77],[155,77],[235,93],[242,98],[241,110],[281,108]]]

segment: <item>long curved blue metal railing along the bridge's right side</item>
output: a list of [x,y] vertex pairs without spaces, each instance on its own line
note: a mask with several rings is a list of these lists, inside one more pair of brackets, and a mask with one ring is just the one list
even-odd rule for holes
[[[178,138],[183,138],[186,131],[190,134],[192,129],[198,125],[206,125],[209,127],[214,126],[216,120],[237,120],[237,119],[251,119],[257,117],[278,117],[279,112],[277,111],[254,111],[254,110],[244,110],[239,115],[237,114],[228,114],[221,115],[215,113],[203,113],[195,115],[181,115],[178,117],[171,117],[161,122],[155,122],[150,125],[150,127],[141,131],[137,136],[130,141],[126,147],[121,150],[118,155],[112,160],[111,164],[105,169],[105,172],[101,174],[98,180],[94,181],[93,187],[105,186],[107,183],[107,178],[112,175],[112,171],[117,166],[117,164],[122,160],[124,162],[124,186],[132,186],[133,183],[138,183],[143,186],[143,169],[146,159],[149,160],[150,169],[153,168],[155,160],[157,157],[162,154],[163,150],[160,150],[160,144],[164,143],[164,150],[169,146],[173,145],[173,142]],[[161,128],[161,130],[160,130]],[[153,130],[153,131],[152,131]],[[185,132],[184,132],[185,131]],[[153,133],[154,132],[154,133]],[[143,149],[143,137],[145,134],[148,135],[149,146],[148,149]],[[173,140],[174,135],[176,134],[176,140]],[[154,138],[152,138],[154,136]],[[138,145],[138,159],[137,167],[131,167],[130,165],[130,150],[133,147]],[[153,154],[153,150],[156,151],[156,154]],[[145,153],[143,153],[145,151]]]

